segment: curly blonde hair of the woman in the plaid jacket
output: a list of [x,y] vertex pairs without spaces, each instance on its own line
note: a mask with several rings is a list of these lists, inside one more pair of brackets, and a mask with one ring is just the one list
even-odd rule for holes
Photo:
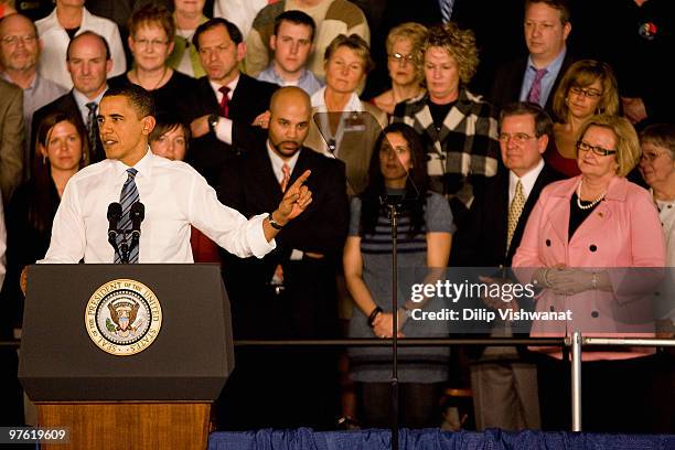
[[463,84],[475,75],[479,56],[473,31],[461,30],[454,22],[431,26],[421,47],[422,61],[429,47],[441,47],[457,61]]

